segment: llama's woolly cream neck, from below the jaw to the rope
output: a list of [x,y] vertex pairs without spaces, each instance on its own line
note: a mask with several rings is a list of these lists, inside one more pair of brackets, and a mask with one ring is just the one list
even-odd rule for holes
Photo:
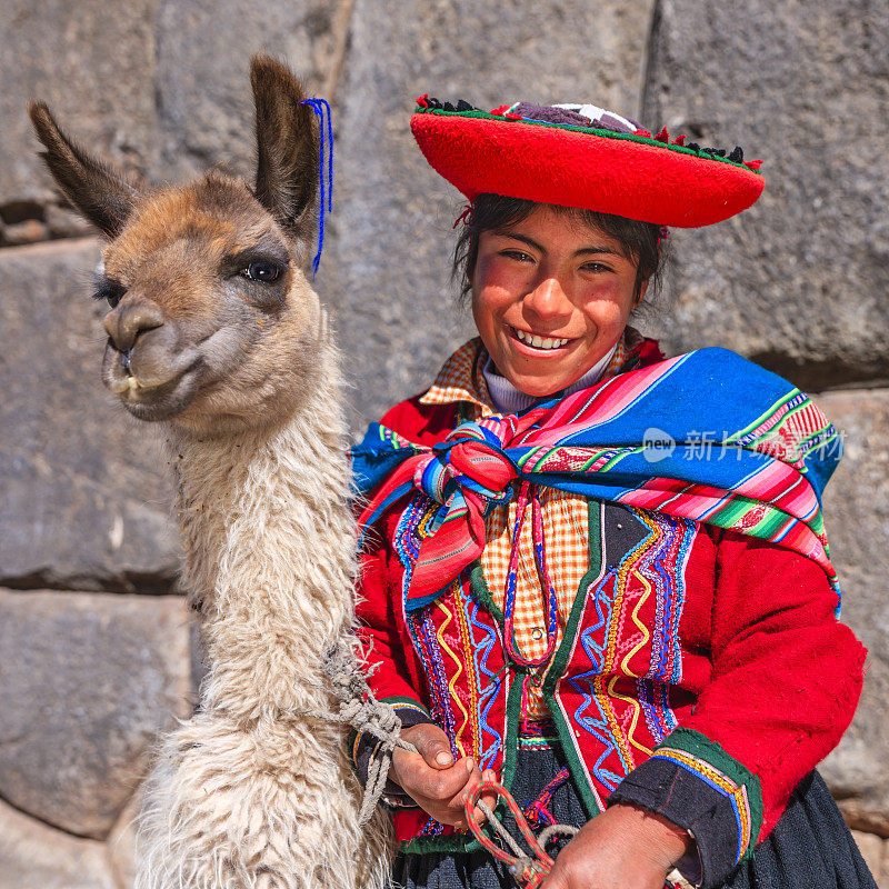
[[209,659],[203,700],[243,718],[317,702],[324,649],[352,620],[346,427],[326,352],[289,422],[170,440],[186,582]]

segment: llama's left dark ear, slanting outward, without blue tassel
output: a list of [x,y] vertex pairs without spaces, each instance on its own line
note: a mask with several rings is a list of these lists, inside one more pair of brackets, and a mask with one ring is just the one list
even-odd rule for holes
[[40,157],[66,198],[109,238],[123,228],[139,189],[111,166],[90,157],[60,129],[44,102],[30,102],[28,113],[46,147]]

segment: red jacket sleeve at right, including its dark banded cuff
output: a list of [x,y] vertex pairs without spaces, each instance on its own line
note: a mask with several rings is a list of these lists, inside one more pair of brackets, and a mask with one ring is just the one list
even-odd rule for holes
[[710,681],[609,799],[689,830],[705,889],[752,853],[839,742],[867,653],[837,621],[837,595],[815,562],[748,536],[713,536]]

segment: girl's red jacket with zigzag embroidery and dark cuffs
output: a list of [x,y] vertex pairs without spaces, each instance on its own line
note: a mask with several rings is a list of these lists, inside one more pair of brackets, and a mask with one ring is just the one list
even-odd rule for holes
[[[657,354],[651,354],[657,359]],[[393,408],[421,444],[459,402]],[[790,550],[688,519],[587,502],[589,565],[549,662],[510,662],[481,560],[419,611],[402,578],[424,516],[384,517],[362,557],[360,631],[374,692],[402,722],[433,721],[457,756],[509,787],[529,697],[546,701],[590,817],[628,801],[697,839],[706,886],[725,880],[838,742],[865,651],[836,621],[825,572]],[[471,849],[419,809],[396,815],[408,851]]]

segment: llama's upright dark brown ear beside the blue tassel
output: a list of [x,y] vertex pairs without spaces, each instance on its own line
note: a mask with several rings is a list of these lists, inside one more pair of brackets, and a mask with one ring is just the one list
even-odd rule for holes
[[309,237],[307,217],[318,192],[319,134],[312,109],[301,104],[302,87],[270,56],[250,60],[257,109],[256,196],[298,237]]

